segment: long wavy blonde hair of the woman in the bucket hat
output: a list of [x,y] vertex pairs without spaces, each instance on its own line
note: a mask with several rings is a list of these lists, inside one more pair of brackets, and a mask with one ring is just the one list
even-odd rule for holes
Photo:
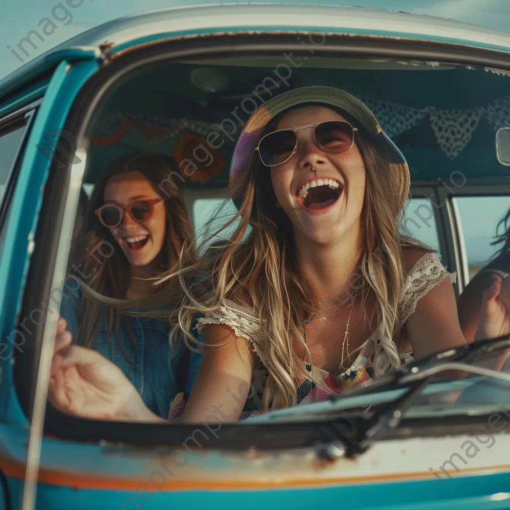
[[[423,247],[399,234],[399,221],[409,194],[409,171],[402,171],[401,165],[389,164],[355,119],[342,110],[327,107],[358,127],[356,144],[366,169],[362,210],[366,241],[360,261],[355,262],[361,262],[365,283],[362,299],[366,302],[371,294],[376,301],[381,342],[374,345],[373,366],[376,374],[381,374],[392,366],[399,366],[398,349],[392,339],[400,326],[398,305],[404,282],[401,244]],[[261,136],[273,131],[279,118],[288,112],[272,119]],[[268,170],[258,157],[252,160],[231,194],[243,197],[238,213],[213,235],[239,224],[210,265],[212,286],[209,292],[198,296],[190,288],[186,290],[179,312],[180,329],[188,331],[193,314],[214,312],[225,298],[253,309],[261,327],[259,336],[265,339],[269,371],[262,405],[265,409],[269,406],[278,409],[296,403],[298,379],[311,378],[296,353],[296,342],[304,345],[310,356],[300,325],[317,311],[316,303],[310,284],[297,267],[292,224],[285,212],[276,207]],[[249,227],[251,232],[247,235]],[[380,254],[376,256],[376,253]],[[192,340],[191,335],[185,335]],[[319,384],[319,381],[314,382]]]

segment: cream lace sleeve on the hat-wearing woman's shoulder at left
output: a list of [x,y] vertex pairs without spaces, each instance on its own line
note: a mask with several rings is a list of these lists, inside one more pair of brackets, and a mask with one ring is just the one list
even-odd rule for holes
[[218,310],[206,313],[204,317],[197,320],[196,329],[201,333],[206,324],[225,324],[234,329],[238,337],[249,340],[253,346],[253,351],[259,356],[260,360],[266,364],[264,355],[264,339],[261,336],[261,327],[255,312],[243,305],[237,304],[230,299],[224,299]]

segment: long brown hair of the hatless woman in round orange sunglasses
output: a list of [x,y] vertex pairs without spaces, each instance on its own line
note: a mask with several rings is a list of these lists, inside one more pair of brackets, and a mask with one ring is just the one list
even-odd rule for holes
[[[155,294],[148,300],[126,300],[127,287],[130,284],[130,266],[123,251],[118,246],[109,229],[100,223],[94,211],[104,204],[104,192],[108,181],[115,175],[140,172],[152,188],[161,191],[166,212],[165,243],[161,253],[161,265],[158,274],[173,273],[180,264],[189,266],[196,263],[193,231],[188,219],[186,205],[178,188],[168,180],[171,172],[179,172],[177,163],[165,155],[142,153],[123,156],[115,160],[101,180],[97,182],[90,198],[83,226],[69,257],[70,266],[80,267],[83,274],[89,274],[86,281],[81,280],[82,297],[78,311],[77,343],[91,347],[99,327],[106,319],[107,337],[114,333],[118,339],[119,326],[126,330],[132,344],[133,334],[129,321],[117,302],[127,303],[125,308],[141,305],[157,305],[171,302],[172,298],[182,294],[177,279],[171,279],[162,290],[155,285]],[[175,183],[174,183],[175,184]],[[75,271],[70,269],[69,274]],[[178,304],[175,305],[175,309]],[[166,317],[168,317],[168,313]],[[119,344],[120,345],[120,344]]]

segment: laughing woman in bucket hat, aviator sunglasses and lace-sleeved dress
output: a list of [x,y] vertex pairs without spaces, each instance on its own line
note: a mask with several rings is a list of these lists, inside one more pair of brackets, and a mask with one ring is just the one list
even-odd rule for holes
[[[225,228],[239,225],[213,264],[214,290],[200,299],[187,292],[180,311],[185,331],[205,312],[198,330],[206,343],[181,422],[234,421],[323,400],[465,344],[455,275],[399,235],[409,186],[398,148],[344,91],[292,90],[251,115],[231,166],[239,214]],[[498,292],[486,295],[480,336],[505,327]],[[98,377],[104,362],[88,354],[64,339],[56,344],[50,398],[61,410],[160,420],[114,367]],[[73,370],[85,370],[84,387],[101,405],[71,382]]]

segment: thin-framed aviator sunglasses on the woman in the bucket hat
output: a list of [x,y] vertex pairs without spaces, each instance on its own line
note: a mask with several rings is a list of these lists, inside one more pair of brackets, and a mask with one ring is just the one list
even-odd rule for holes
[[296,131],[305,127],[315,128],[315,139],[319,147],[328,152],[349,150],[354,144],[354,131],[358,131],[357,127],[352,127],[345,120],[326,120],[293,129],[273,131],[263,136],[255,148],[262,163],[266,166],[277,166],[289,161],[297,150]]

